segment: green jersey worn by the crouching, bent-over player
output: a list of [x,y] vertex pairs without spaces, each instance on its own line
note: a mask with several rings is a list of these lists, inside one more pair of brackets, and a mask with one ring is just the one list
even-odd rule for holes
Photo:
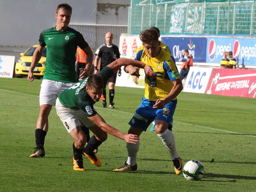
[[[107,84],[109,77],[114,75],[114,72],[112,68],[105,67],[100,71],[99,74],[102,76],[105,85]],[[92,117],[96,115],[97,112],[93,108],[95,101],[85,89],[87,86],[87,79],[88,77],[64,90],[58,95],[58,98],[60,103],[62,103],[65,107],[70,109],[81,109],[86,116]]]

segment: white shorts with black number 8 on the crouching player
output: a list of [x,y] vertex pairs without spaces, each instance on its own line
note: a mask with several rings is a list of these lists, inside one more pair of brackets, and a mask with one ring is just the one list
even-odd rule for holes
[[56,112],[68,132],[80,126],[79,119],[88,128],[96,126],[81,109],[67,108],[60,103],[59,98],[56,100]]

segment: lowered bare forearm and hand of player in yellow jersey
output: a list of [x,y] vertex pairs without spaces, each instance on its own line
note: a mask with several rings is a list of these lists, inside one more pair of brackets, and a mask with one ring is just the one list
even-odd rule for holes
[[156,104],[153,105],[154,109],[164,108],[164,106],[167,103],[169,103],[171,100],[173,100],[175,97],[177,97],[179,95],[179,93],[182,91],[183,85],[182,85],[182,81],[180,78],[176,79],[175,81],[172,81],[172,83],[173,83],[173,87],[172,87],[172,90],[170,91],[170,93],[163,100],[158,99],[156,101]]

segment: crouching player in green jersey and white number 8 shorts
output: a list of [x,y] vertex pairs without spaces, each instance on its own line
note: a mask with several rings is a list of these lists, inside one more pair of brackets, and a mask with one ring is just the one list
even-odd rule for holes
[[[56,100],[56,111],[63,122],[68,133],[74,139],[73,143],[73,169],[84,171],[83,157],[86,156],[92,164],[101,166],[101,161],[93,150],[107,139],[107,133],[117,138],[125,140],[127,143],[136,144],[139,136],[135,134],[125,134],[114,127],[108,125],[104,119],[94,110],[93,105],[100,100],[104,85],[109,77],[114,75],[121,66],[132,65],[144,68],[148,76],[154,77],[154,72],[144,63],[130,59],[118,59],[102,69],[99,74],[91,75],[72,87],[66,89],[58,95]],[[130,71],[130,75],[139,76],[137,70]],[[86,136],[80,127],[80,121],[88,127],[93,136],[86,143]]]

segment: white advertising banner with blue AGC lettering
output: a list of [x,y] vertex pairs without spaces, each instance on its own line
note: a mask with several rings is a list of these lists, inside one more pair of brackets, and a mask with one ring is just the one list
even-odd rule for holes
[[204,93],[212,68],[190,67],[185,83],[183,83],[183,92]]

